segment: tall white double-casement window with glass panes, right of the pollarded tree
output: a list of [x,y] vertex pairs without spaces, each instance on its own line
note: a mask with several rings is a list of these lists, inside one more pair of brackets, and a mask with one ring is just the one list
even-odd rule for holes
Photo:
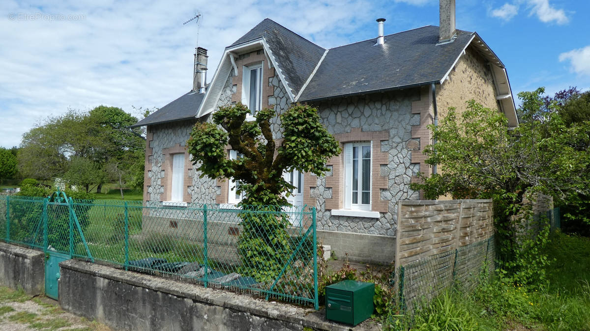
[[371,141],[344,145],[344,208],[371,210]]

